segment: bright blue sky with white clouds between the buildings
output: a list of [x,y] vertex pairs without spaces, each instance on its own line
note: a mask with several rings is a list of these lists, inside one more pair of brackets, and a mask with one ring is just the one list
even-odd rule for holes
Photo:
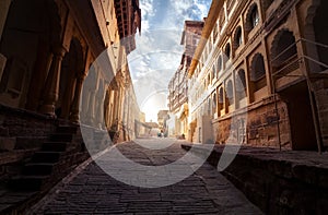
[[142,14],[137,49],[128,56],[137,100],[147,121],[167,108],[168,82],[179,67],[186,20],[202,21],[211,0],[139,0]]

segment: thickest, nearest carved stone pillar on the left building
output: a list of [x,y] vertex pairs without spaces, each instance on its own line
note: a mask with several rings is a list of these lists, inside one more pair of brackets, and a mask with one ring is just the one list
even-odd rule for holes
[[46,80],[45,94],[40,107],[42,114],[55,116],[55,105],[59,94],[61,61],[65,52],[66,50],[62,47],[58,47],[54,51],[52,63]]

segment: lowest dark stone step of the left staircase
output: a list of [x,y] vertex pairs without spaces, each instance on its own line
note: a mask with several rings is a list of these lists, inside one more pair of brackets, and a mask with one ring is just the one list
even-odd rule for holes
[[9,181],[9,188],[20,191],[37,191],[46,184],[48,176],[19,176]]

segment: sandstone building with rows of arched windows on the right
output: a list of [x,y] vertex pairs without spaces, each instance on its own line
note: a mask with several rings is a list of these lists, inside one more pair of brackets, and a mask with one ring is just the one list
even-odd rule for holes
[[192,141],[323,151],[326,9],[316,0],[213,1],[189,69]]

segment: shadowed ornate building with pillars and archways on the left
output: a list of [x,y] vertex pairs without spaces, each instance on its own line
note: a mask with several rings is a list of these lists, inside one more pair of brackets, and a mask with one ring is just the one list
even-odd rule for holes
[[[72,131],[74,140],[82,127],[91,128],[93,139],[109,131],[117,141],[131,140],[140,110],[127,55],[141,27],[139,1],[0,5],[0,154],[8,157],[1,159],[1,177],[8,166],[52,148],[54,136]],[[70,160],[79,163],[85,152],[82,140],[75,143]],[[73,164],[66,165],[63,170]]]

